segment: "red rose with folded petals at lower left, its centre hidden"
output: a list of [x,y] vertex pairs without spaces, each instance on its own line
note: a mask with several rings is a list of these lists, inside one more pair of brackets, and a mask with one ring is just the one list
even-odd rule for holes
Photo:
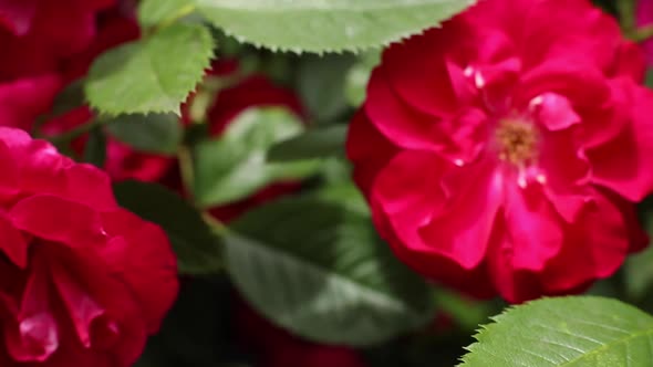
[[131,366],[177,294],[165,233],[108,177],[0,128],[2,366]]

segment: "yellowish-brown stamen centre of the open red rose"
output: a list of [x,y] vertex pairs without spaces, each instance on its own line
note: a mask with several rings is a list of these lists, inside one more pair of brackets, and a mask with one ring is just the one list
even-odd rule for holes
[[496,130],[499,159],[518,166],[526,166],[537,158],[538,134],[531,123],[506,118]]

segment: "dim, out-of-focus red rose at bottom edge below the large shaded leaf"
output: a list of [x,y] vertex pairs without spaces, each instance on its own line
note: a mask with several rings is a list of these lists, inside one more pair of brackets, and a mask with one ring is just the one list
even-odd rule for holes
[[259,357],[262,367],[366,366],[354,349],[303,340],[270,324],[241,302],[237,308],[237,327],[239,339]]

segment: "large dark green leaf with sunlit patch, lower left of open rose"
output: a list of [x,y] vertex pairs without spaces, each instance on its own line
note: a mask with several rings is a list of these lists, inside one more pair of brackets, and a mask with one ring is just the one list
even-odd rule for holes
[[246,213],[226,237],[241,294],[272,322],[320,343],[373,345],[428,323],[428,285],[369,217],[303,197]]

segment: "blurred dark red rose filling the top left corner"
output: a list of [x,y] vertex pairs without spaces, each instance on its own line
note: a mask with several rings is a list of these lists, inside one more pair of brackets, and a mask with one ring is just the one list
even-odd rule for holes
[[30,129],[63,87],[66,60],[95,36],[96,14],[115,0],[0,3],[0,126]]

